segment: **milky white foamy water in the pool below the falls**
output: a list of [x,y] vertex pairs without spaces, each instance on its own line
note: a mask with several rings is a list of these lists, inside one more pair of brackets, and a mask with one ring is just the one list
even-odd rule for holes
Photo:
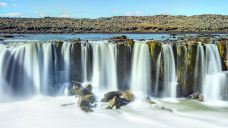
[[[136,101],[120,110],[98,106],[85,113],[74,97],[37,97],[0,103],[1,128],[226,128],[228,109],[206,106],[197,101],[169,103],[157,100],[149,105]],[[70,104],[62,106],[63,104]],[[173,112],[160,107],[170,108]]]

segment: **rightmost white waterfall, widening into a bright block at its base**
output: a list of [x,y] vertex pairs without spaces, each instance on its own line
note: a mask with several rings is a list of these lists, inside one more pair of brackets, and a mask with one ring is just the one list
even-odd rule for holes
[[205,83],[203,95],[208,101],[223,100],[222,90],[225,88],[226,74],[222,73],[222,64],[218,48],[215,44],[206,44]]

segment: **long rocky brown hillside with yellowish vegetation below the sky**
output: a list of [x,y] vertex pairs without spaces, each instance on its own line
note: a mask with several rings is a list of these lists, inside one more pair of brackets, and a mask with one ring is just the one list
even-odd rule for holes
[[115,16],[98,19],[0,18],[0,33],[228,32],[228,16]]

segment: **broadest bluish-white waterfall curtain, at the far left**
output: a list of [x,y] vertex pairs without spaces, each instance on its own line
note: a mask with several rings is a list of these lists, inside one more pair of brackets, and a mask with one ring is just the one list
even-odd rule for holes
[[63,43],[58,58],[59,51],[53,43],[1,44],[1,94],[54,95],[61,90],[63,93],[70,85],[70,47]]

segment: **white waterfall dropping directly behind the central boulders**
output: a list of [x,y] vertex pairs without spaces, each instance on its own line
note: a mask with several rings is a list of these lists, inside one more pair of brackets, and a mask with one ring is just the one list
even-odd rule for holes
[[93,52],[92,85],[100,90],[118,90],[117,48],[107,41],[91,42]]

